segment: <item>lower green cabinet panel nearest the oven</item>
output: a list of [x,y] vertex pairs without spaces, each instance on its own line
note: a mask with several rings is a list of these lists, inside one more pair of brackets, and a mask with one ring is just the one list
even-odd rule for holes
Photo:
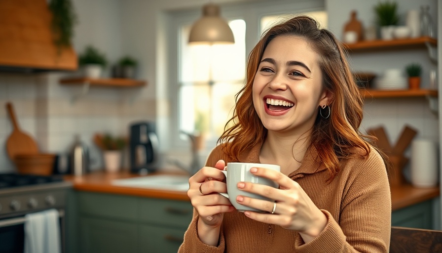
[[136,253],[137,225],[98,218],[80,218],[80,252]]

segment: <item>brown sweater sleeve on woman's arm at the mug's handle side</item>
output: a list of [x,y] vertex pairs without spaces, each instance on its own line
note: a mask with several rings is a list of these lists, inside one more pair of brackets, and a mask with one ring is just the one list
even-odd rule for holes
[[[215,166],[215,164],[218,162],[218,160],[222,159],[221,157],[221,150],[219,147],[216,147],[212,152],[209,154],[206,165],[205,166]],[[225,247],[225,241],[224,241],[224,234],[220,232],[220,238],[219,238],[219,245],[218,247],[207,245],[198,237],[198,231],[197,231],[197,223],[198,223],[198,212],[193,209],[193,218],[190,222],[189,227],[184,233],[184,241],[183,244],[180,246],[180,249],[178,250],[178,253],[223,253],[224,247]]]

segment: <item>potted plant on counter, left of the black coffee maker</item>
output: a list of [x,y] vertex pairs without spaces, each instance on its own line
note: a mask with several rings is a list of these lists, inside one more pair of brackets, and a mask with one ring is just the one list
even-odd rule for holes
[[121,167],[122,150],[126,146],[126,139],[109,133],[95,134],[94,142],[103,152],[105,169],[108,172],[117,172]]

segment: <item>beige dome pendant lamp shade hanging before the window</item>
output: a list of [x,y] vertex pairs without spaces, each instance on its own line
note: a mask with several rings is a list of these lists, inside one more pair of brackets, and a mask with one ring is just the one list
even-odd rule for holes
[[220,7],[214,3],[203,6],[203,16],[190,30],[189,43],[235,43],[233,32],[220,17]]

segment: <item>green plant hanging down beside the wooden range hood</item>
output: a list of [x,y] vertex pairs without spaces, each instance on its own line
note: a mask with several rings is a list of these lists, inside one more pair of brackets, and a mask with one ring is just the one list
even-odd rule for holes
[[59,50],[70,46],[74,37],[74,25],[77,23],[74,5],[71,0],[51,0],[49,9],[52,12],[51,27],[55,44]]

